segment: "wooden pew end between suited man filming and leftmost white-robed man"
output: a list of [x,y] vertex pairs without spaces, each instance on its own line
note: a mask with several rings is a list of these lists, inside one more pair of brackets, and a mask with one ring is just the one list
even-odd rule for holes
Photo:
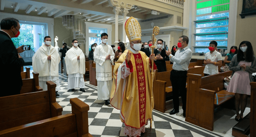
[[20,94],[43,91],[43,89],[39,86],[39,73],[32,72],[33,78],[22,79],[22,87]]

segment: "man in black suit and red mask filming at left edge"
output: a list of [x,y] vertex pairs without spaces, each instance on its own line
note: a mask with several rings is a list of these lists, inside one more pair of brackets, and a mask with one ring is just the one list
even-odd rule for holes
[[11,39],[20,34],[20,23],[17,19],[3,19],[0,27],[0,71],[2,72],[0,97],[4,97],[20,94],[21,67],[24,65],[24,60],[19,53],[24,50],[22,50],[23,45],[16,49]]

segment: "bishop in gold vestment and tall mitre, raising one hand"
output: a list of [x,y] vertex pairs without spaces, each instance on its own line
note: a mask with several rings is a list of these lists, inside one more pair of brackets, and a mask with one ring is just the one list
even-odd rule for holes
[[149,58],[139,51],[141,28],[136,19],[130,17],[126,21],[125,30],[130,47],[127,47],[115,63],[110,104],[120,110],[120,119],[125,123],[125,134],[136,137],[145,132],[145,125],[152,118],[150,64],[155,55],[152,54]]

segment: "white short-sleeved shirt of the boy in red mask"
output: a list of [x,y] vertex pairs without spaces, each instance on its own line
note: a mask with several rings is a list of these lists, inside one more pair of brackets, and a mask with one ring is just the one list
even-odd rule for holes
[[[211,54],[211,52],[207,52],[205,54],[204,59],[205,60],[210,59],[213,62],[218,62],[218,61],[222,60],[221,54],[219,52],[215,51],[215,50],[212,52],[212,54]],[[203,73],[209,74],[209,75],[217,74],[218,73],[218,66],[215,66],[214,64],[206,64],[206,66],[203,70]]]

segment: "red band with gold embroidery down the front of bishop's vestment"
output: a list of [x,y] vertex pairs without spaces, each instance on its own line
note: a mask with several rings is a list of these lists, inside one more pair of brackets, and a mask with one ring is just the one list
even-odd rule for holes
[[140,126],[145,124],[145,108],[146,108],[146,81],[144,66],[141,58],[141,54],[133,54],[135,60],[135,66],[137,70],[137,80],[138,80],[138,94],[139,94],[139,112],[140,112]]

